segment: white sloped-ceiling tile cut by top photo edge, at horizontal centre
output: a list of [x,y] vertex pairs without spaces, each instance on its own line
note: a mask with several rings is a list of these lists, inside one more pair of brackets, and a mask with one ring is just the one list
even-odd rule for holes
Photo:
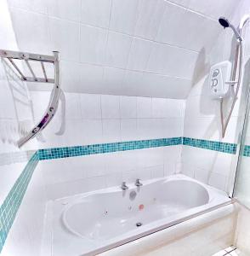
[[139,0],[113,0],[110,29],[133,35],[138,8]]

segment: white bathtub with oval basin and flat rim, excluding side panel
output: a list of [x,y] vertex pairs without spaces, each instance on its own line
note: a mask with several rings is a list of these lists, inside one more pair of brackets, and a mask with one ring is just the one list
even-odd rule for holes
[[51,202],[53,255],[102,253],[230,202],[223,191],[181,174],[128,187]]

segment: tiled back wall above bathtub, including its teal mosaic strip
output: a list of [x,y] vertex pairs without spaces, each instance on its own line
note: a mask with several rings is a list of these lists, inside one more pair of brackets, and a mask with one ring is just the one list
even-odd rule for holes
[[[41,113],[36,110],[41,109],[48,93],[32,91],[31,96],[37,117]],[[179,172],[182,146],[163,146],[180,144],[171,143],[168,138],[182,135],[184,100],[65,93],[65,102],[65,122],[60,106],[57,117],[44,131],[45,141],[39,142],[39,148],[102,145],[92,149],[67,148],[65,154],[76,155],[80,150],[85,154],[81,158],[42,161],[38,169],[43,172],[49,198],[118,185],[123,180],[134,182],[136,177],[146,179]],[[65,132],[56,135],[61,123],[65,123]],[[154,144],[157,148],[151,148]],[[57,152],[53,150],[41,150],[41,157],[54,158]],[[93,150],[113,153],[86,155]]]

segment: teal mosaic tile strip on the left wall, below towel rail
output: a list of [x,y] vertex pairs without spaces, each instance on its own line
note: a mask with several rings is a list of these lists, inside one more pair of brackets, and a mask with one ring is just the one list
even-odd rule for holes
[[0,207],[0,253],[3,249],[3,244],[7,239],[9,230],[14,223],[14,218],[20,207],[21,201],[26,194],[26,189],[31,181],[32,174],[39,161],[39,155],[36,152],[31,156],[24,171],[14,183],[14,186],[9,191],[9,195],[3,201]]

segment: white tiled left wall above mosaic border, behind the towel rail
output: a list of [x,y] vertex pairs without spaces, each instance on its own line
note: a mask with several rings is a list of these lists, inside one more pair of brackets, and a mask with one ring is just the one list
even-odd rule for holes
[[[0,49],[18,49],[8,4],[1,2]],[[14,76],[6,61],[0,60],[0,205],[26,166],[28,156],[16,141],[31,126],[31,104],[26,84]],[[34,145],[33,145],[34,147]]]

